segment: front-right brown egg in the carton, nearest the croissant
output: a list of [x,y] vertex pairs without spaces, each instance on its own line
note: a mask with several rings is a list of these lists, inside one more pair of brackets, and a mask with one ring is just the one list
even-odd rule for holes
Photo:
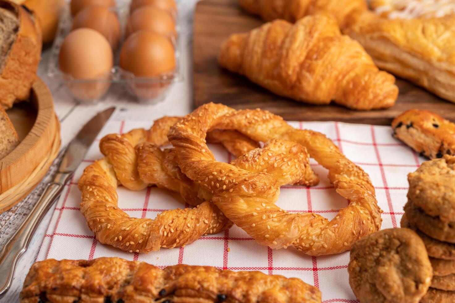
[[136,77],[157,77],[175,68],[174,46],[165,36],[136,31],[120,51],[120,67]]

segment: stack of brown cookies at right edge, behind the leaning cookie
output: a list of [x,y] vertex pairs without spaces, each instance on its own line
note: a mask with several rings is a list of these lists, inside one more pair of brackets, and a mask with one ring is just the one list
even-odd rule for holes
[[455,302],[455,157],[424,162],[408,181],[401,227],[424,241],[434,274],[421,302]]

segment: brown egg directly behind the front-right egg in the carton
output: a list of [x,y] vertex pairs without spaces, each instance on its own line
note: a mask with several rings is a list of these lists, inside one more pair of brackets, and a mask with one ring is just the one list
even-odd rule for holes
[[164,36],[175,36],[177,34],[172,14],[152,5],[138,8],[128,18],[126,36],[140,30],[154,31]]

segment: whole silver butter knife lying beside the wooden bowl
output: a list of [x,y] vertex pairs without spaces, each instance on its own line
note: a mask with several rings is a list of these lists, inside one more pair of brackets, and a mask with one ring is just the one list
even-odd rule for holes
[[14,270],[19,258],[27,250],[30,240],[35,233],[36,227],[43,219],[46,212],[51,208],[60,196],[66,182],[68,182],[76,168],[81,164],[90,145],[96,139],[106,121],[111,117],[115,108],[108,108],[89,122],[76,135],[66,149],[60,166],[54,176],[54,180],[45,187],[40,199],[36,202],[30,214],[19,226],[14,236],[6,243],[0,252],[0,296],[11,286]]

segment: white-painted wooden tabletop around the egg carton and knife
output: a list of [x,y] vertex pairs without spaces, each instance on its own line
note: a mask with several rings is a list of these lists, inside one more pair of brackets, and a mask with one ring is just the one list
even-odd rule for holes
[[[184,79],[182,82],[173,84],[171,92],[166,100],[155,105],[139,104],[127,97],[125,92],[119,89],[111,89],[109,94],[100,103],[91,105],[77,104],[66,93],[65,89],[52,83],[46,74],[47,60],[49,50],[43,52],[43,59],[40,63],[38,74],[42,77],[54,97],[55,109],[61,123],[62,146],[68,144],[77,134],[79,129],[97,112],[116,106],[118,109],[118,118],[135,118],[147,120],[152,123],[153,120],[164,115],[185,115],[192,109],[192,15],[194,4],[197,0],[177,0],[179,5],[179,22],[181,27],[180,38],[182,39],[182,70]],[[0,247],[5,245],[6,241],[12,236],[15,228],[24,220],[40,194],[40,187],[29,197],[0,215]],[[10,290],[0,298],[1,303],[19,302],[19,293],[22,288],[25,276],[30,266],[35,262],[43,235],[51,219],[49,211],[41,221],[35,235],[33,236],[30,246],[25,254],[21,257],[16,267],[14,280]]]

